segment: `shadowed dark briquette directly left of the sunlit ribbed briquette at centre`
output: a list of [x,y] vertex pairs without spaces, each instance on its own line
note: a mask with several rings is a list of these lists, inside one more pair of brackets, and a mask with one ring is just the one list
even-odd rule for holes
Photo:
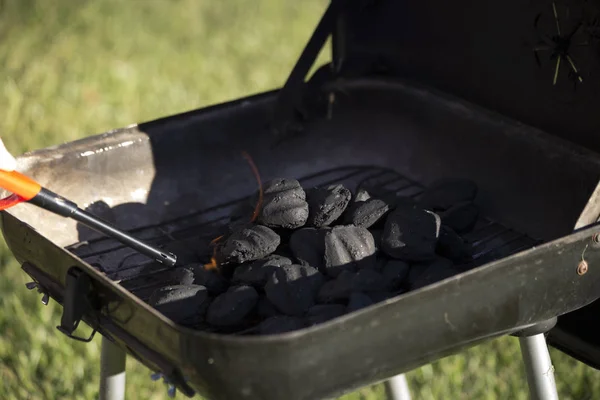
[[325,234],[329,228],[302,228],[290,237],[289,247],[296,262],[322,271],[325,254]]

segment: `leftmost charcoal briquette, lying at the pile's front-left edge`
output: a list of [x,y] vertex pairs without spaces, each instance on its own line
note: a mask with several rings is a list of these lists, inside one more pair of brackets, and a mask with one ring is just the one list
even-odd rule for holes
[[173,285],[154,291],[148,304],[175,323],[195,325],[202,321],[209,302],[204,286]]

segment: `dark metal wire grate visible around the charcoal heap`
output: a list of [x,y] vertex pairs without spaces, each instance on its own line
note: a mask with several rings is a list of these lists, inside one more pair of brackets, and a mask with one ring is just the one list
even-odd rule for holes
[[[342,167],[299,179],[303,187],[341,183],[353,193],[365,188],[378,196],[419,196],[424,187],[396,171],[380,167]],[[178,265],[208,262],[212,239],[222,234],[238,201],[211,207],[185,217],[130,231],[155,246],[172,251]],[[473,268],[495,259],[507,257],[539,243],[487,218],[480,218],[474,230],[463,236],[472,247],[473,262],[462,266]],[[171,284],[178,268],[164,267],[110,238],[99,238],[68,247],[68,250],[99,268],[110,279],[120,281],[126,289],[147,300],[157,288]]]

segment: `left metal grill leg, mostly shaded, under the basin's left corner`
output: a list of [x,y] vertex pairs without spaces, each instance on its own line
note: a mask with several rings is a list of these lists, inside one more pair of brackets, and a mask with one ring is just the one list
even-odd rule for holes
[[102,337],[100,355],[100,400],[125,399],[126,353]]

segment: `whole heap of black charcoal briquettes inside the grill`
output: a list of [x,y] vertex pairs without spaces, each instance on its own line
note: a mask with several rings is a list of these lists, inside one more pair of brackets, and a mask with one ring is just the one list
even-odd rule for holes
[[459,273],[471,259],[461,235],[478,218],[476,195],[465,179],[439,180],[416,200],[275,179],[232,217],[217,269],[186,266],[181,284],[156,290],[149,304],[220,333],[319,324]]

